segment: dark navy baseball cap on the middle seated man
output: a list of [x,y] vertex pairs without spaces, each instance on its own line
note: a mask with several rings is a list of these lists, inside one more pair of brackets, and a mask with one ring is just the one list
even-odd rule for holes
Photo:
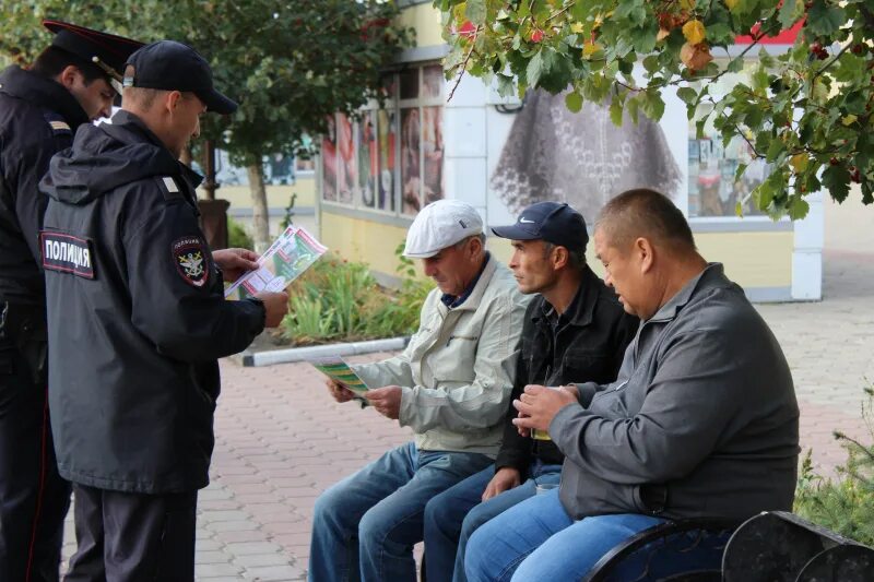
[[586,250],[589,233],[582,214],[558,202],[531,204],[519,215],[516,224],[496,226],[492,231],[512,240],[545,240],[568,250]]

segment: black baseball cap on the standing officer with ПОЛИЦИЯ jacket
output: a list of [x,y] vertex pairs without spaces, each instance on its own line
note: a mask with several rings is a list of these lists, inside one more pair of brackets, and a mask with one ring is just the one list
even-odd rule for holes
[[229,115],[237,104],[215,91],[212,69],[197,50],[175,40],[158,40],[139,49],[125,66],[125,87],[193,93],[208,111]]

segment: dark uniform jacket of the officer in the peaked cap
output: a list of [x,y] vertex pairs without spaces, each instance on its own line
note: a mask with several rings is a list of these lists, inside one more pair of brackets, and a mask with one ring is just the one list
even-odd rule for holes
[[87,120],[61,84],[14,66],[0,73],[0,300],[44,302],[37,238],[46,203],[39,179]]

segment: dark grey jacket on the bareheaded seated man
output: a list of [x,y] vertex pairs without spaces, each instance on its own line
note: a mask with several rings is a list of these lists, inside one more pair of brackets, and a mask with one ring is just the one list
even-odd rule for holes
[[783,353],[711,264],[649,320],[607,385],[579,384],[550,435],[574,519],[791,511],[799,407]]

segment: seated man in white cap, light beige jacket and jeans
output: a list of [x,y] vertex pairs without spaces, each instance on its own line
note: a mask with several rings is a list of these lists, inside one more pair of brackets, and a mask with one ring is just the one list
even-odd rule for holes
[[[476,210],[454,200],[425,206],[404,256],[437,283],[403,354],[356,366],[379,412],[409,426],[393,449],[316,501],[309,579],[415,581],[413,545],[427,501],[494,463],[509,405],[527,300],[489,257]],[[352,399],[329,381],[339,402]]]

